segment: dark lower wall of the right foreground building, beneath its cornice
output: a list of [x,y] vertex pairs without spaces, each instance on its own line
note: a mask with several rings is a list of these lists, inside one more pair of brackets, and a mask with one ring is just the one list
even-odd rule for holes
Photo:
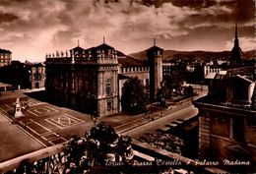
[[[198,107],[201,159],[256,160],[256,112],[237,112],[232,108],[215,106]],[[233,147],[237,145],[243,151],[240,154],[234,152]]]

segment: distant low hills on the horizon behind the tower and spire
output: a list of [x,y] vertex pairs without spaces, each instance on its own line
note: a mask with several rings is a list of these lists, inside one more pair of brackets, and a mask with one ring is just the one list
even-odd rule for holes
[[[216,60],[216,59],[226,59],[229,57],[230,51],[213,52],[213,51],[176,51],[176,50],[164,50],[163,60],[175,60],[175,59],[190,59],[190,60]],[[147,57],[146,50],[141,52],[136,52],[129,54],[129,56],[136,59],[145,60]],[[255,51],[249,50],[243,52],[243,59],[253,59],[255,58]]]

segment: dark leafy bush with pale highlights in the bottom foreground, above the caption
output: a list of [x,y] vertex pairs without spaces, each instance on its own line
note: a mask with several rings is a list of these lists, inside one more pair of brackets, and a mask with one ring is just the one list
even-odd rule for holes
[[119,136],[110,125],[100,122],[88,131],[85,138],[71,138],[64,149],[66,168],[69,173],[83,173],[107,162],[126,164],[134,156],[131,142],[130,137]]

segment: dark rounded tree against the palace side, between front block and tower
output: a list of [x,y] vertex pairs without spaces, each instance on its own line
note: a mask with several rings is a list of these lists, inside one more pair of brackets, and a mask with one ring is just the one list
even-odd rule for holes
[[149,95],[137,77],[124,84],[122,93],[121,105],[124,112],[138,112],[149,103]]

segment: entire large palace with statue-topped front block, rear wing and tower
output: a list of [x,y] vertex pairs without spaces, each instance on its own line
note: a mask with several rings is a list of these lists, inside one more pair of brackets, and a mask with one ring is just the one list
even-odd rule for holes
[[144,86],[153,89],[154,100],[161,81],[162,49],[154,44],[147,52],[148,61],[141,61],[103,42],[88,49],[78,45],[69,53],[46,55],[48,97],[55,103],[93,115],[110,115],[121,110],[124,83],[130,77],[138,77]]

